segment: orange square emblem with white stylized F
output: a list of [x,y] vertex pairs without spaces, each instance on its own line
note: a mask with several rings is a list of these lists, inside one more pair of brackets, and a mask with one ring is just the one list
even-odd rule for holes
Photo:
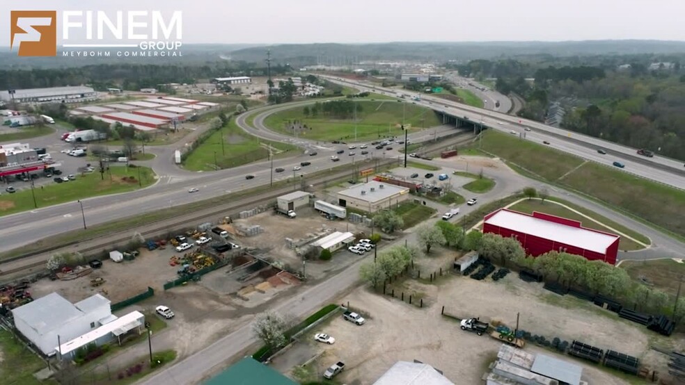
[[10,49],[19,56],[57,56],[57,12],[13,10],[10,13]]

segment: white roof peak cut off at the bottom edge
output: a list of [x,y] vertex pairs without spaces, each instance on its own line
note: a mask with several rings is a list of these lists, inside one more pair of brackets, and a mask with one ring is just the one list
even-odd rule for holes
[[442,372],[419,361],[397,361],[373,385],[455,385]]

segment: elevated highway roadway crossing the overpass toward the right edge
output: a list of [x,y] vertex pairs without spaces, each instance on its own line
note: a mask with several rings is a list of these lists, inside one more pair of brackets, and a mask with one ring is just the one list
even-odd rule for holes
[[[322,75],[322,77],[329,79],[329,80],[333,81],[334,83],[345,83],[345,85],[354,85],[357,88],[363,88],[363,90],[365,90],[365,91],[374,92],[374,91],[382,90],[382,91],[390,92],[390,93],[396,92],[396,90],[391,90],[389,88],[375,87],[375,89],[374,89],[374,88],[371,88],[370,86],[365,85],[363,83],[359,83],[356,81],[350,81],[348,79],[338,80],[338,78],[336,78],[336,77],[324,76],[324,75]],[[405,92],[404,90],[402,92],[407,93],[411,96],[418,95],[418,94],[416,94],[416,92]],[[466,104],[458,104],[458,103],[446,101],[445,99],[427,97],[425,95],[423,95],[423,100],[420,102],[417,102],[417,104],[423,104],[426,107],[433,107],[433,108],[435,107],[432,104],[427,104],[426,103],[427,101],[431,101],[432,104],[439,104],[441,106],[445,106],[445,108],[448,108],[448,109],[446,109],[446,111],[452,115],[462,116],[462,117],[464,115],[466,115],[469,120],[473,120],[475,122],[479,122],[481,119],[481,116],[482,117],[489,117],[489,118],[496,119],[498,121],[508,122],[509,124],[514,124],[517,126],[528,126],[532,129],[537,129],[537,130],[548,132],[548,133],[554,133],[557,135],[562,135],[562,136],[567,136],[567,137],[571,136],[572,138],[574,138],[576,140],[582,140],[583,142],[588,143],[588,146],[592,147],[590,149],[591,151],[596,151],[597,148],[601,147],[604,149],[609,149],[611,151],[616,151],[616,152],[624,154],[626,156],[632,156],[632,157],[637,156],[637,154],[636,154],[637,150],[633,149],[631,147],[618,145],[618,144],[613,143],[613,142],[608,142],[606,140],[601,140],[598,138],[594,138],[592,136],[586,136],[586,135],[583,135],[581,133],[576,133],[576,132],[568,131],[565,129],[557,129],[556,127],[553,127],[553,126],[547,126],[546,124],[542,124],[539,122],[533,122],[532,120],[525,120],[525,119],[522,119],[520,117],[514,117],[514,116],[506,115],[505,113],[499,113],[496,111],[485,110],[482,108],[467,106]],[[519,122],[521,122],[521,123],[519,124]],[[496,126],[493,126],[492,128],[499,129]],[[554,136],[551,138],[557,138],[557,137]],[[668,167],[672,167],[677,172],[682,172],[682,170],[685,170],[685,167],[683,167],[682,161],[677,161],[677,160],[671,159],[671,158],[665,158],[663,156],[654,156],[654,158],[645,158],[644,160],[648,161],[648,162],[652,162],[652,163],[657,163],[659,165],[665,165]]]

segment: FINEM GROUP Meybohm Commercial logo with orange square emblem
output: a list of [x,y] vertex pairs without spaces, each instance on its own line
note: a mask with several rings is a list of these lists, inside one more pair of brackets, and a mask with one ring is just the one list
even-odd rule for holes
[[57,56],[59,22],[60,56],[182,56],[180,10],[64,10],[60,17],[56,10],[10,11],[10,49],[17,47],[19,56]]

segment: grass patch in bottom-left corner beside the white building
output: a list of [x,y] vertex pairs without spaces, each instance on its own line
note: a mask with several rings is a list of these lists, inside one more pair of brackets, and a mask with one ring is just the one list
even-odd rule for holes
[[0,377],[3,384],[56,384],[54,380],[41,382],[33,377],[33,373],[47,368],[47,364],[6,330],[0,330],[0,355]]

